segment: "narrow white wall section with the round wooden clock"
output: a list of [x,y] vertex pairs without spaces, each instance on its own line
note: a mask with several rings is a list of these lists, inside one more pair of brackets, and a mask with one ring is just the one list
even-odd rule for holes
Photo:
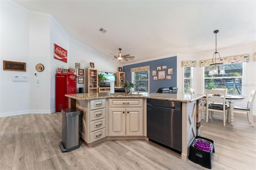
[[[29,28],[30,112],[50,113],[50,17],[31,13]],[[44,65],[44,71],[36,71],[38,63]]]

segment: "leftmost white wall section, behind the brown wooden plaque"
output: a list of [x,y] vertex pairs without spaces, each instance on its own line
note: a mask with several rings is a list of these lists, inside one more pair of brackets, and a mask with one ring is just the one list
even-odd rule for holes
[[[29,14],[10,1],[0,1],[0,113],[27,114],[30,111],[30,81],[12,81],[12,75],[29,75]],[[3,60],[25,62],[26,72],[3,71]],[[17,95],[18,94],[18,95]]]

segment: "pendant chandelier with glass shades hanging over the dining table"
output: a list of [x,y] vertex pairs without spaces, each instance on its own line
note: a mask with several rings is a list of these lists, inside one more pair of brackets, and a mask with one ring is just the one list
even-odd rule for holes
[[[216,55],[218,54],[219,57],[220,57],[220,54],[217,52],[217,33],[218,32],[219,32],[219,30],[214,31],[214,34],[215,34],[215,53],[212,56],[212,62],[210,64],[210,66],[214,66],[214,69],[212,70],[212,68],[210,68],[210,71],[209,71],[208,75],[218,74],[218,69],[217,69],[216,66],[223,65],[221,58],[220,58],[221,63],[216,63]],[[215,61],[213,61],[214,55],[215,55]],[[224,70],[223,67],[221,67],[221,69],[220,69],[220,74],[225,74],[225,70]]]

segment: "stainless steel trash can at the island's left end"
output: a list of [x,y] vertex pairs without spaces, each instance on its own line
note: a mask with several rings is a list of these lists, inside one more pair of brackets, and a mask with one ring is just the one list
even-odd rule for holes
[[78,108],[62,109],[62,141],[59,142],[62,152],[70,152],[80,147],[80,126],[83,111]]

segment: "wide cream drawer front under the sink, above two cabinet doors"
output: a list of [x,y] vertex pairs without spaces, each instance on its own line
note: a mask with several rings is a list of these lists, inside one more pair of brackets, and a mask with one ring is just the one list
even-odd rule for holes
[[143,99],[109,99],[109,107],[142,107]]

